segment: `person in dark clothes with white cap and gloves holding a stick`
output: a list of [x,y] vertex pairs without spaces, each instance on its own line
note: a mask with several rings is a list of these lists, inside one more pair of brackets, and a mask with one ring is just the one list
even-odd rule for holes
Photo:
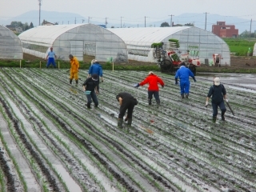
[[[206,98],[206,107],[209,105],[209,98],[211,98],[211,105],[213,107],[213,122],[216,122],[218,107],[222,110],[222,121],[225,121],[224,114],[226,112],[226,106],[224,104],[224,99],[228,102],[226,98],[226,89],[221,84],[220,78],[214,78],[214,85],[210,86],[209,93]],[[224,99],[223,99],[224,98]]]

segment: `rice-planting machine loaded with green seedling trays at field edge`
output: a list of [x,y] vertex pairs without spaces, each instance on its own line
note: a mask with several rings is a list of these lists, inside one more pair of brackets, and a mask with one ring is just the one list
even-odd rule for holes
[[153,43],[151,47],[154,48],[153,57],[157,60],[162,73],[174,73],[178,70],[180,64],[185,62],[186,67],[195,75],[196,67],[201,65],[198,58],[190,58],[189,50],[187,50],[187,54],[181,54],[181,51],[178,50],[179,43],[177,39],[169,39],[169,42],[166,43]]

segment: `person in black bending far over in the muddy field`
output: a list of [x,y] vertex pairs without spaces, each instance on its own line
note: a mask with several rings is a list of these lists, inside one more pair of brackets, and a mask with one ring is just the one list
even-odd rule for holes
[[127,121],[128,126],[131,126],[134,106],[138,104],[137,99],[134,98],[131,94],[128,94],[126,92],[119,93],[116,96],[116,98],[118,99],[118,102],[120,104],[120,109],[118,114],[118,127],[120,128],[122,127],[123,116],[126,114],[126,110],[127,110],[127,116],[125,121]]

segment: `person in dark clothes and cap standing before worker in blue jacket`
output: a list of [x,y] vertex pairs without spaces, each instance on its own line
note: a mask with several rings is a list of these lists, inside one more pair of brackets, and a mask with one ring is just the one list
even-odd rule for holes
[[86,94],[87,98],[87,108],[90,109],[90,103],[93,100],[95,107],[98,107],[98,91],[96,87],[98,86],[98,74],[93,74],[90,78],[87,78],[86,81],[82,84],[82,90]]

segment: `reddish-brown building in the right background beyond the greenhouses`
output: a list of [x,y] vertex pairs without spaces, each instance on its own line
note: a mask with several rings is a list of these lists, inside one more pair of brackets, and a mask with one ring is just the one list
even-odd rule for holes
[[238,30],[234,25],[226,25],[226,22],[217,22],[217,25],[212,26],[213,34],[218,35],[220,38],[237,38]]

